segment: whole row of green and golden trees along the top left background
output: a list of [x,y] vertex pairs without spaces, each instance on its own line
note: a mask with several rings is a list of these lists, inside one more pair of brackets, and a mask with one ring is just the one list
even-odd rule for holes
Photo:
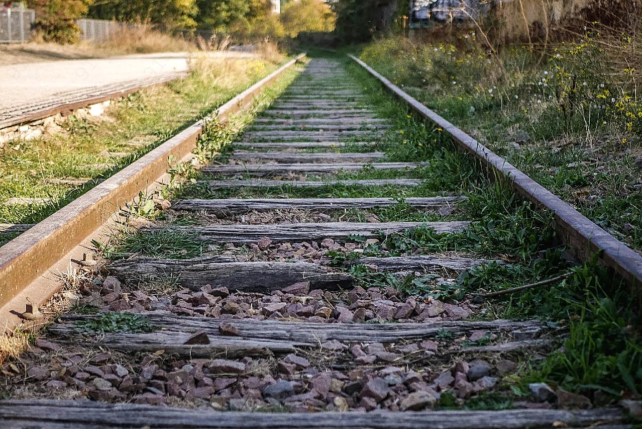
[[[365,0],[365,3],[370,1],[374,0]],[[338,0],[337,3],[340,3],[338,10],[344,11],[347,9],[343,3],[361,2]],[[75,20],[85,15],[149,23],[169,32],[227,33],[240,40],[331,32],[335,23],[333,10],[322,0],[282,0],[281,15],[273,14],[270,0],[28,0],[28,5],[37,10],[36,25],[44,38],[57,42],[76,41],[79,29]],[[355,9],[356,13],[362,9]]]

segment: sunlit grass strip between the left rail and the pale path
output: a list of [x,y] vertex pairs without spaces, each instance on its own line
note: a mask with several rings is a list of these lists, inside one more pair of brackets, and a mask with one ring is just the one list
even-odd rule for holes
[[[60,135],[8,143],[0,152],[0,223],[41,221],[275,68],[258,59],[234,60],[229,66],[213,68],[211,77],[195,72],[123,98],[107,109],[113,121],[72,118]],[[143,144],[133,146],[133,140]],[[128,155],[106,157],[102,151]],[[103,163],[111,167],[88,167]],[[51,178],[89,182],[80,187],[47,183]],[[9,197],[43,197],[51,203],[1,204]]]

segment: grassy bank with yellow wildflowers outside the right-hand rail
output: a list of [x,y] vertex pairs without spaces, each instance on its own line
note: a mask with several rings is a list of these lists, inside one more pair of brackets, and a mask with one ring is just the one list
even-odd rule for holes
[[[408,44],[392,37],[361,48],[360,55],[404,91],[642,251],[642,165],[636,163],[642,134],[636,134],[637,125],[627,132],[617,117],[620,111],[611,107],[611,97],[619,102],[631,82],[605,70],[602,54],[594,49],[602,46],[600,37],[580,38],[577,42],[587,46],[583,50],[575,50],[573,41],[554,46],[561,55],[550,53],[543,61],[539,51],[517,46],[508,46],[499,58],[487,57],[473,39],[462,37],[450,46]],[[573,89],[573,79],[586,85]],[[605,113],[594,114],[602,111],[593,108],[589,114],[590,104],[600,100],[595,95],[605,89],[611,90]],[[625,105],[621,114],[632,107]],[[522,136],[526,141],[517,149],[510,145]]]

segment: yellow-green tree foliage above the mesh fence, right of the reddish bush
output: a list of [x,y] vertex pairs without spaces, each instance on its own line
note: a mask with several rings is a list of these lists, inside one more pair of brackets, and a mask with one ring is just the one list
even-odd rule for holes
[[128,23],[151,23],[162,30],[195,28],[196,0],[97,0],[89,15]]

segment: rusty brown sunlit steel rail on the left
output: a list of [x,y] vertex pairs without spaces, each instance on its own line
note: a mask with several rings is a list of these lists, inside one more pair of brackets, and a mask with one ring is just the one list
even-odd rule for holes
[[[252,104],[265,86],[304,55],[290,60],[223,104],[212,117],[225,120],[229,114]],[[119,206],[132,201],[139,192],[153,188],[166,175],[170,159],[189,158],[203,127],[204,120],[190,125],[0,248],[0,331],[21,322],[15,315],[24,311],[25,297],[41,305],[58,291],[59,282],[45,282],[42,276],[58,262],[68,263],[72,251],[71,257],[80,259],[82,249],[78,246],[96,234],[118,212]],[[42,284],[38,284],[39,280]]]

